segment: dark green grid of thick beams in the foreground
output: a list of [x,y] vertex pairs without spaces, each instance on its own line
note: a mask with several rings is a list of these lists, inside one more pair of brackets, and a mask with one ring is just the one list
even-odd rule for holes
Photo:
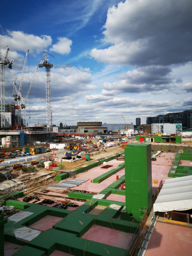
[[[111,256],[121,256],[124,253],[124,249],[122,248],[113,247],[94,241],[90,242],[90,240],[86,241],[86,239],[82,239],[80,237],[93,226],[94,219],[96,220],[96,225],[109,227],[111,229],[114,228],[124,232],[134,233],[137,228],[137,226],[133,227],[129,221],[123,221],[119,219],[116,219],[111,224],[111,218],[117,218],[121,209],[125,206],[125,204],[122,202],[91,199],[78,209],[75,209],[73,212],[37,204],[20,203],[22,202],[15,201],[14,207],[20,209],[21,205],[24,205],[27,207],[27,209],[23,210],[23,212],[32,212],[32,215],[29,215],[18,222],[8,219],[8,223],[5,224],[5,241],[10,241],[12,243],[22,245],[23,248],[25,247],[27,249],[20,249],[20,254],[17,253],[16,255],[22,256],[24,255],[23,253],[25,253],[25,255],[30,255],[30,253],[32,253],[32,255],[44,255],[42,253],[44,252],[45,255],[48,256],[55,250],[59,250],[73,255],[84,256],[84,248],[87,248],[87,256],[107,256],[108,252]],[[120,209],[114,210],[109,208],[111,204],[120,205]],[[13,200],[7,201],[6,205],[13,205]],[[106,206],[106,208],[98,216],[87,213],[94,209],[94,207],[97,205]],[[30,226],[36,221],[44,218],[46,215],[61,217],[62,220],[58,221],[58,223],[53,226],[53,229],[44,231],[30,242],[16,239],[15,234],[10,232],[10,230],[13,231],[18,228]],[[89,246],[87,247],[88,244]],[[31,248],[27,248],[26,246],[35,248],[37,251],[33,251]],[[108,250],[108,252],[104,249],[104,247]]]

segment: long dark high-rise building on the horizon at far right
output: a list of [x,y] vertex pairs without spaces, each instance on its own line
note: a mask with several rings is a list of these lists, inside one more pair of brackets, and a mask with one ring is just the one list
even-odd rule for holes
[[146,124],[182,123],[183,130],[192,129],[192,110],[146,118]]

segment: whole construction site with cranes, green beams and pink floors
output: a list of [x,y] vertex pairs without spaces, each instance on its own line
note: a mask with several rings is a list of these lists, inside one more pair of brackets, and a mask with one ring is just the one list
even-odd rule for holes
[[[0,255],[191,255],[192,132],[184,136],[182,119],[148,117],[147,132],[124,116],[119,124],[59,129],[51,69],[70,64],[51,64],[48,55],[55,57],[43,50],[24,99],[27,49],[7,103],[8,52],[0,49]],[[38,68],[45,68],[46,123],[29,125],[26,103]]]

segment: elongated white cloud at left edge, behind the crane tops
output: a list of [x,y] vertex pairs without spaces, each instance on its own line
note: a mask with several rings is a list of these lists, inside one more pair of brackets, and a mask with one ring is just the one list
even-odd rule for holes
[[[5,39],[11,51],[26,52],[29,49],[31,53],[35,53],[40,52],[43,48],[47,48],[52,44],[52,38],[49,35],[35,36],[22,31],[9,30],[7,34],[5,38],[0,35],[0,41],[4,42]],[[6,49],[4,44],[2,44],[2,48]]]

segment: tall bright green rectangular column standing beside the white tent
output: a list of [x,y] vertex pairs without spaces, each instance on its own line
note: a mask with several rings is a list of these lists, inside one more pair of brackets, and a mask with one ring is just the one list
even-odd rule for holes
[[151,144],[129,144],[125,148],[126,219],[141,221],[141,207],[152,208]]

